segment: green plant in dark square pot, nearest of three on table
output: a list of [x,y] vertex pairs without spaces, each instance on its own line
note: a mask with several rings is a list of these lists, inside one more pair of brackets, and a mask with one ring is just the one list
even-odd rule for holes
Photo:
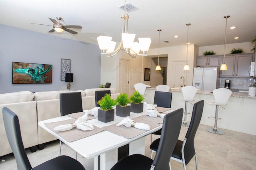
[[111,98],[110,94],[105,94],[98,101],[98,104],[100,105],[100,109],[98,109],[98,121],[104,123],[114,121],[115,112],[112,107],[116,105],[116,101]]

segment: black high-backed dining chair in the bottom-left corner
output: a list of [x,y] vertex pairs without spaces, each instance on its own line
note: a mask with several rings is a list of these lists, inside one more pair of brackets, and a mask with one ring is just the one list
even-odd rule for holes
[[18,170],[85,170],[80,162],[69,156],[58,156],[32,168],[22,142],[18,116],[7,107],[4,107],[3,119]]

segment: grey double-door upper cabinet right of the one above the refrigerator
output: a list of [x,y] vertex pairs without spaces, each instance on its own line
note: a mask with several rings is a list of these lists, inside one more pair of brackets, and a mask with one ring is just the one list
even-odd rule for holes
[[[248,70],[253,57],[253,53],[225,55],[228,70],[221,70],[220,77],[250,77]],[[222,63],[223,60],[224,56],[221,57]]]

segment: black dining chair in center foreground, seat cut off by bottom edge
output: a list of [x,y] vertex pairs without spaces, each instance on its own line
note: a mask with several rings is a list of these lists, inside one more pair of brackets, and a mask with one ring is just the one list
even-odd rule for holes
[[182,108],[165,115],[154,160],[142,154],[133,154],[117,162],[110,170],[169,170],[170,157],[180,134],[182,115]]

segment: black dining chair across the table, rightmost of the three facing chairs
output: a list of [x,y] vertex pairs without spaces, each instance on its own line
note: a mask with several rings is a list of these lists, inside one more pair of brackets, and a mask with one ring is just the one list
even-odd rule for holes
[[[172,93],[155,91],[154,104],[159,107],[171,108],[172,105]],[[157,130],[152,134],[161,135],[162,129]],[[152,143],[152,134],[150,134],[150,142]]]

